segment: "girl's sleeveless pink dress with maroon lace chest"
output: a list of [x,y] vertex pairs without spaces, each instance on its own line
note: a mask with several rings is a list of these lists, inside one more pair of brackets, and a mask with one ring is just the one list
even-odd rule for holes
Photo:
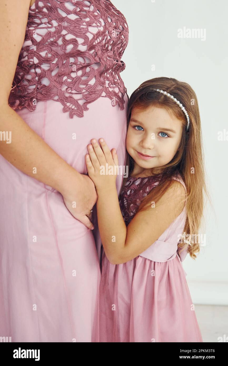
[[[179,180],[185,187],[180,176]],[[143,197],[158,183],[128,177],[120,195],[126,225]],[[186,188],[186,187],[185,187]],[[102,252],[100,342],[202,342],[182,261],[177,253],[186,207],[138,257],[113,265]]]

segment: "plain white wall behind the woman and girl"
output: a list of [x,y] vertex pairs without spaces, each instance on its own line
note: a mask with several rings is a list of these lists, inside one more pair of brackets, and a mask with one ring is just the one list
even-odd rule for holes
[[[195,304],[228,305],[228,2],[226,0],[113,0],[127,19],[129,42],[121,73],[128,95],[145,80],[167,76],[186,81],[197,94],[208,188],[206,246],[183,262]],[[177,29],[206,29],[206,39],[178,38]],[[155,71],[151,65],[155,65]],[[228,136],[227,136],[228,139]]]

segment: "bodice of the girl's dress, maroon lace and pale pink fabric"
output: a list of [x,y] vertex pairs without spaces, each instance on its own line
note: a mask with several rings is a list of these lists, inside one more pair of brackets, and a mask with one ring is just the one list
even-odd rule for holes
[[[173,179],[181,182],[186,190],[186,186],[180,176]],[[153,176],[150,177],[128,177],[127,182],[119,196],[119,205],[122,216],[126,225],[130,223],[134,215],[137,213],[139,204],[142,199],[158,184]],[[180,235],[182,235],[186,222],[186,204],[176,219],[162,233],[162,235],[152,245],[140,254],[141,257],[153,260],[155,262],[166,262],[179,254],[181,262],[187,255],[187,246],[179,253],[180,248],[177,246]]]

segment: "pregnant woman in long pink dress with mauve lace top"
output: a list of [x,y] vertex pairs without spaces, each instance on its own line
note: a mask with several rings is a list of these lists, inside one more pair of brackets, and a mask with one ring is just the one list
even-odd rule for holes
[[0,14],[0,336],[98,342],[85,155],[103,137],[125,164],[127,22],[109,0],[4,1]]

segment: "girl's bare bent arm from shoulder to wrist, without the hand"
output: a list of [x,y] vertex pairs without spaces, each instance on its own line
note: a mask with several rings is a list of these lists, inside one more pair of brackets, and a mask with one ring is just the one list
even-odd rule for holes
[[112,264],[128,262],[149,248],[182,212],[185,199],[182,183],[173,180],[156,207],[139,211],[126,227],[116,189],[109,187],[97,194],[99,232]]

